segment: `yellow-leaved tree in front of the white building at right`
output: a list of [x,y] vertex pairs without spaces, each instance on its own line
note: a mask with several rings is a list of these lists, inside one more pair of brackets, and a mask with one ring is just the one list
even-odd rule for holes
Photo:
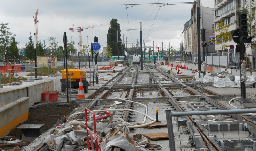
[[217,27],[214,30],[215,39],[210,40],[211,43],[215,43],[216,45],[219,45],[219,48],[223,50],[224,47],[229,47],[230,45],[227,45],[226,42],[231,40],[231,31],[229,30],[229,25],[224,25],[223,20],[220,20],[219,23],[217,23]]

